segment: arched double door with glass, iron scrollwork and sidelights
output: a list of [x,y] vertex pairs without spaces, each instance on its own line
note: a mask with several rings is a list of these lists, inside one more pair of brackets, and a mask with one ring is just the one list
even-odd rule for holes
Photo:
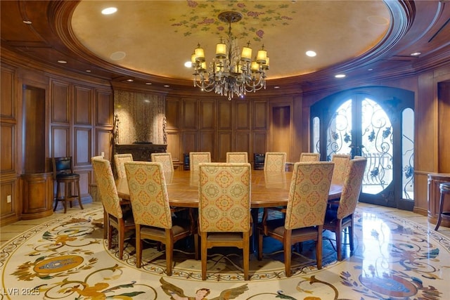
[[359,200],[413,209],[414,95],[388,87],[352,89],[311,106],[311,145],[367,158]]

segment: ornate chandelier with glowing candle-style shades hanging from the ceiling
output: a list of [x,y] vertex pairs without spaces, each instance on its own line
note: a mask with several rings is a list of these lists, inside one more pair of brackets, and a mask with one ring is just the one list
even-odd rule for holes
[[229,23],[229,32],[225,40],[221,39],[217,44],[216,57],[209,67],[200,44],[191,56],[194,86],[199,86],[202,91],[228,96],[229,100],[233,96],[243,98],[248,92],[266,89],[266,70],[269,70],[269,58],[264,45],[253,61],[250,41],[239,51],[237,39],[231,34],[231,23],[240,19],[242,15],[234,11],[219,14],[219,20]]

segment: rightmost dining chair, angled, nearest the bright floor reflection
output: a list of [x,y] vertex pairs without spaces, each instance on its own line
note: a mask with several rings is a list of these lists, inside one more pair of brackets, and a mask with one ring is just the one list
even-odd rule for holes
[[356,158],[349,161],[349,170],[342,187],[342,193],[339,200],[328,202],[326,210],[324,230],[333,231],[336,235],[336,252],[338,252],[338,261],[342,260],[342,230],[349,230],[350,253],[354,249],[354,211],[358,204],[359,194],[361,193],[366,171],[366,158]]

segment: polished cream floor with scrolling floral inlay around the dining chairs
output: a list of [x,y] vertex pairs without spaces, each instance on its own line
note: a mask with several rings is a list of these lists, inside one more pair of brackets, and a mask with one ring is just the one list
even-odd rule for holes
[[[323,269],[314,244],[293,255],[291,278],[283,253],[264,240],[264,259],[250,256],[243,280],[240,250],[209,253],[206,281],[191,242],[177,244],[172,276],[165,255],[146,243],[143,268],[135,266],[134,239],[124,260],[103,240],[103,211],[72,211],[27,230],[1,247],[0,299],[449,299],[450,240],[392,214],[359,207],[354,255],[336,261],[334,234],[324,233]],[[348,245],[347,245],[348,246]],[[266,253],[271,252],[271,253]],[[25,297],[26,296],[26,297]]]

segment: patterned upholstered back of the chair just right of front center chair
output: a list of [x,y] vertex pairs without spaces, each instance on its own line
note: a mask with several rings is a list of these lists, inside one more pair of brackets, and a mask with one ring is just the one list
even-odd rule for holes
[[323,225],[333,162],[296,162],[290,183],[285,228]]

